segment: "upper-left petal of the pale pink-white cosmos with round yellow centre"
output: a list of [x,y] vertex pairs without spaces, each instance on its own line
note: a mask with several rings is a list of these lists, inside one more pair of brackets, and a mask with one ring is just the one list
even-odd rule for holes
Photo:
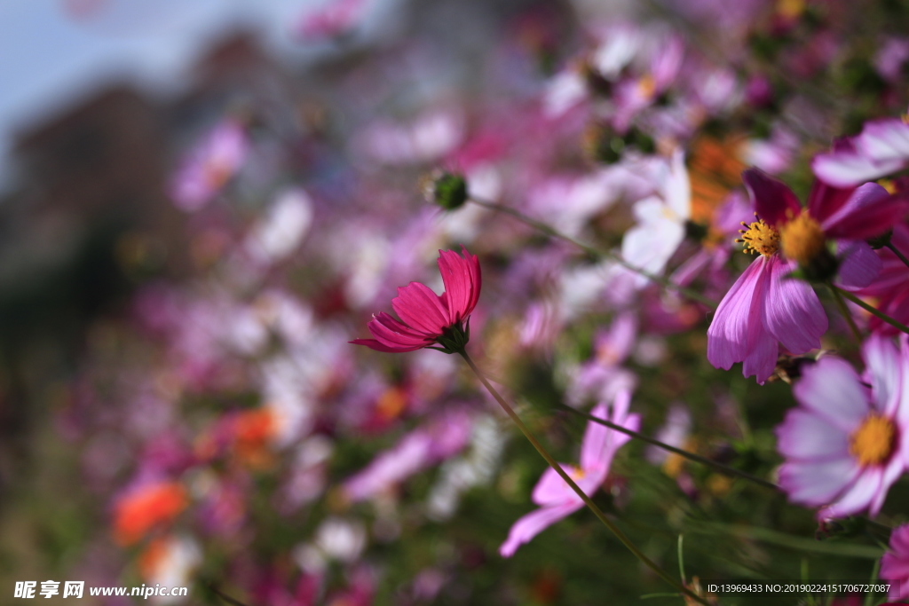
[[847,433],[853,432],[870,411],[852,365],[833,356],[805,367],[793,393],[805,408]]

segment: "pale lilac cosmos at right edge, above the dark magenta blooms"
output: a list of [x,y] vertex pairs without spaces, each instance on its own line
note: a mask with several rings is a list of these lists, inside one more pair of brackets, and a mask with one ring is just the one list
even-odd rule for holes
[[909,124],[903,118],[866,122],[862,132],[841,139],[834,151],[814,157],[814,174],[837,187],[856,185],[909,164]]

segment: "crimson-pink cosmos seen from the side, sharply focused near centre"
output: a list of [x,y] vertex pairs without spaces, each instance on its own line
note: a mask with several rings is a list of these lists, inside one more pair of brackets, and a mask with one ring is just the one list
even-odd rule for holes
[[[480,262],[475,254],[439,251],[439,272],[445,292],[433,293],[423,283],[412,282],[398,288],[392,307],[403,322],[388,313],[373,315],[368,324],[375,339],[356,339],[376,352],[414,352],[428,347],[445,353],[464,349],[470,338],[469,317],[480,298]],[[441,347],[435,347],[435,344]]]

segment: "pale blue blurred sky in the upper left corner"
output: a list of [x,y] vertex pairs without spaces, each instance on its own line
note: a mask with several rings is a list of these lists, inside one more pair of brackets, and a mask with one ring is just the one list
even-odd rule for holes
[[218,37],[241,25],[277,55],[305,54],[291,32],[325,0],[0,0],[0,190],[16,133],[112,81],[174,93]]

